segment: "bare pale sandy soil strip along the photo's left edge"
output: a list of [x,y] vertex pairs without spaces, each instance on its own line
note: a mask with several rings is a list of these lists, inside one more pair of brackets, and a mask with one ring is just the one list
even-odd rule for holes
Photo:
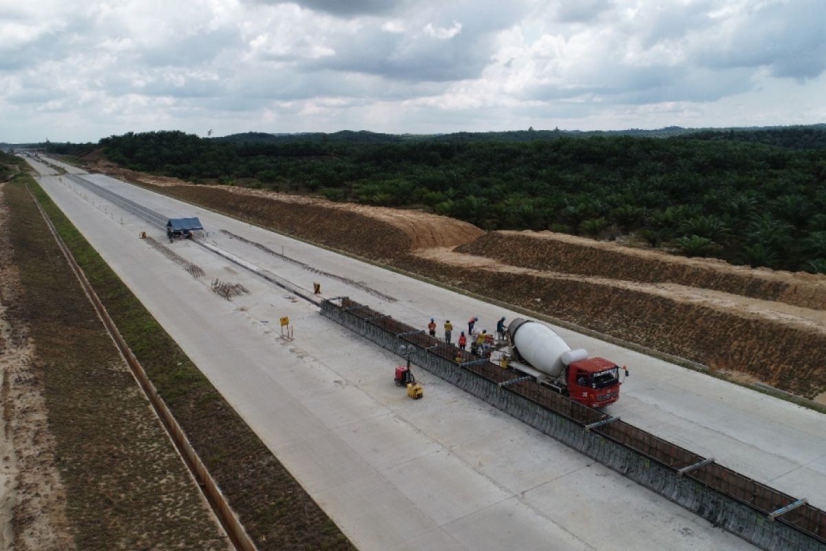
[[[2,188],[0,188],[2,197]],[[19,292],[10,262],[8,216],[0,202],[0,372],[3,431],[0,439],[0,549],[74,549],[66,496],[55,465],[55,441],[45,420],[42,378],[26,328],[12,326],[7,307]]]

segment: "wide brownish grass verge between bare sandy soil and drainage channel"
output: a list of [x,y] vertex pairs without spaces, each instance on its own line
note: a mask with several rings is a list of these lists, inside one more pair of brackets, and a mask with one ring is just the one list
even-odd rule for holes
[[[22,286],[9,313],[28,327],[35,345],[35,384],[42,385],[75,545],[225,549],[206,503],[60,254],[26,182],[31,178],[20,175],[3,188]],[[20,492],[39,497],[50,488]],[[16,522],[17,530],[26,530],[25,518]]]

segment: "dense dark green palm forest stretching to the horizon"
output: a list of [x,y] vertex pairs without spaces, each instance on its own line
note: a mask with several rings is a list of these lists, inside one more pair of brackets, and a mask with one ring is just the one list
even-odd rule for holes
[[734,264],[826,273],[824,126],[674,129],[664,137],[492,134],[514,135],[216,140],[150,132],[100,145],[131,169],[196,183],[423,208],[489,230],[624,236]]

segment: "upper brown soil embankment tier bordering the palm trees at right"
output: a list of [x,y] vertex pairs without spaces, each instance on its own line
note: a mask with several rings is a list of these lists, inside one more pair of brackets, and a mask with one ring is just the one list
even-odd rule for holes
[[524,268],[646,283],[679,283],[826,309],[826,276],[733,266],[721,260],[687,259],[550,231],[494,231],[457,250]]

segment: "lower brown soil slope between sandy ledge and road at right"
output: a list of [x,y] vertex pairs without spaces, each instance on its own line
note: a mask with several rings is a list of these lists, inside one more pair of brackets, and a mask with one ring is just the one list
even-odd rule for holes
[[[434,259],[433,257],[437,259]],[[826,387],[826,331],[771,317],[676,300],[608,280],[514,270],[431,252],[396,264],[471,292],[539,311],[711,368],[748,373],[800,396]]]

